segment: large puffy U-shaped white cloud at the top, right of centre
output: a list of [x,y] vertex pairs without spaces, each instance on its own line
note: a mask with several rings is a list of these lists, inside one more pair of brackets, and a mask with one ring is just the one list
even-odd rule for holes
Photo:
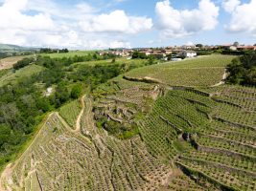
[[214,30],[218,25],[219,7],[211,0],[200,0],[198,9],[175,10],[169,0],[155,6],[156,27],[166,37],[182,37]]

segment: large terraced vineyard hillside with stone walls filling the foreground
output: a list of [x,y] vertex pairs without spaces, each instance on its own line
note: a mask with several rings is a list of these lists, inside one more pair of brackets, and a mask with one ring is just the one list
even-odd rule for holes
[[51,114],[0,190],[256,190],[255,88],[146,82],[119,76]]

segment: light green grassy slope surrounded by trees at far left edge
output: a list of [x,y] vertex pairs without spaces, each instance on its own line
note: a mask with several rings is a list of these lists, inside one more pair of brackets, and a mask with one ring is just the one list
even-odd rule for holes
[[0,86],[4,86],[8,83],[16,83],[19,78],[29,77],[33,74],[37,74],[41,72],[42,70],[43,70],[43,67],[33,64],[23,69],[20,69],[15,73],[10,71],[9,73],[4,74],[0,77]]

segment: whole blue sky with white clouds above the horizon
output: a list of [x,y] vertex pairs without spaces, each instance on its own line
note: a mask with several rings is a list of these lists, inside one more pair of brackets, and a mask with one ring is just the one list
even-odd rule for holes
[[256,43],[256,0],[0,0],[0,43],[106,49]]

